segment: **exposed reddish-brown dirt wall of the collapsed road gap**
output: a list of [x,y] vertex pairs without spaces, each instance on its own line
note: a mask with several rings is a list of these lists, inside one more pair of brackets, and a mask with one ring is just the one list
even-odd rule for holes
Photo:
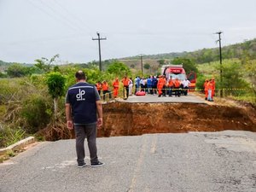
[[103,105],[99,137],[186,131],[256,131],[256,108],[193,103],[125,103]]

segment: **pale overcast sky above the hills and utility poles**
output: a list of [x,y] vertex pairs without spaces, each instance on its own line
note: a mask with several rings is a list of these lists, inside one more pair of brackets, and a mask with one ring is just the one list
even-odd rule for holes
[[256,38],[255,0],[0,0],[0,60],[59,63],[195,51]]

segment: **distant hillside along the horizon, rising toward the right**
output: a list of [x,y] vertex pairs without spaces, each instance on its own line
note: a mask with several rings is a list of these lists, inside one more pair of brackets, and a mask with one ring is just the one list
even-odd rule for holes
[[[190,52],[183,51],[183,52],[163,53],[163,54],[157,54],[157,55],[143,55],[143,64],[149,64],[150,67],[154,68],[159,66],[159,63],[160,63],[159,61],[166,61],[166,63],[168,63],[177,57],[187,58],[191,61],[194,61],[196,64],[208,63],[208,62],[219,60],[219,49],[217,45],[215,48],[212,48],[212,49],[199,49],[199,50],[190,51]],[[222,57],[223,59],[236,58],[239,60],[242,60],[243,58],[246,57],[248,60],[255,60],[256,59],[256,38],[244,41],[243,43],[231,44],[231,45],[222,47]],[[117,58],[113,60],[122,61],[128,67],[131,67],[131,68],[137,68],[137,69],[141,68],[140,55]],[[103,65],[109,63],[109,61],[112,61],[112,60],[104,61]],[[89,65],[90,63],[94,63],[94,62],[97,62],[97,61],[88,62],[86,64]],[[0,58],[0,68],[6,68],[13,63],[15,62],[1,61],[1,58]],[[26,65],[26,63],[20,63],[20,64]],[[82,63],[77,63],[77,64],[82,65]]]

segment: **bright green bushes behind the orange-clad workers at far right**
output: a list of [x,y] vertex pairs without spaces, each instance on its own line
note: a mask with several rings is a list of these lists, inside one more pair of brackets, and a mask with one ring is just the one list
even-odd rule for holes
[[[220,84],[220,64],[213,61],[198,65],[198,71],[201,73],[197,79],[197,88],[203,89],[205,79],[215,78],[217,89],[224,89],[224,96],[230,96],[233,99],[256,103],[255,89],[255,61],[243,65],[239,59],[224,60],[222,64],[223,84]],[[249,67],[247,67],[249,66]],[[253,82],[254,80],[254,82]],[[217,91],[219,94],[219,90]]]

